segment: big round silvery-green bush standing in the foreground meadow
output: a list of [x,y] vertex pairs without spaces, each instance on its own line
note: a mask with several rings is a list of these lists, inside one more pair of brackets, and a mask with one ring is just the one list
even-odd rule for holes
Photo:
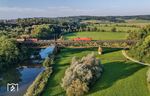
[[102,71],[100,61],[96,59],[94,53],[81,60],[74,57],[65,72],[61,86],[68,96],[82,96],[88,92],[89,86],[100,78]]

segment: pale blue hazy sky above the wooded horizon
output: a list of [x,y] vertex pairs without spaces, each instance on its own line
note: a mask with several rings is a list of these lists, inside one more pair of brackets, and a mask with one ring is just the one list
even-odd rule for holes
[[150,15],[150,0],[0,0],[0,19]]

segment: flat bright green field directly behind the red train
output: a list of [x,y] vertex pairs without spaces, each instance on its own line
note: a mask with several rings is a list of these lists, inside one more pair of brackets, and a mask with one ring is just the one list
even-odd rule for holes
[[93,40],[123,40],[126,39],[128,33],[120,32],[76,32],[65,35],[66,39],[73,39],[77,37],[90,37]]

